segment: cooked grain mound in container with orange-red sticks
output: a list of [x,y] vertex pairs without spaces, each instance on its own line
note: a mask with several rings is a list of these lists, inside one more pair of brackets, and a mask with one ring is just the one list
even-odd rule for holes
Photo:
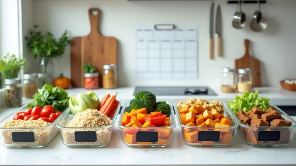
[[[87,109],[83,112],[76,113],[72,120],[70,120],[66,127],[104,127],[112,123],[112,120],[106,115],[100,113],[98,110]],[[96,131],[95,142],[76,142],[75,131]],[[86,129],[67,129],[61,130],[63,141],[65,144],[77,145],[93,145],[100,146],[109,142],[112,129],[107,128],[86,128]]]

